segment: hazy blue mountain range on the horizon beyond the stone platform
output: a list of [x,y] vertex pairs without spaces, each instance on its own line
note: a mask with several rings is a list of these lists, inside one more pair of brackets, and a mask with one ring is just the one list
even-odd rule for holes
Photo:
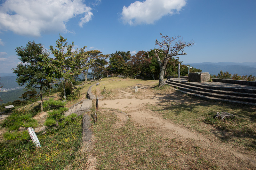
[[209,72],[209,74],[217,75],[220,70],[223,72],[228,71],[231,74],[238,75],[251,75],[256,76],[256,63],[233,63],[233,62],[220,62],[220,63],[182,63],[185,65],[193,66],[194,68],[201,69],[202,72]]

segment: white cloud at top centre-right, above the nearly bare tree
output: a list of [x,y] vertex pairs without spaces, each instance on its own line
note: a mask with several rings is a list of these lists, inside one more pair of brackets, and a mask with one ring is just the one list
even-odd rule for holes
[[164,15],[172,15],[186,5],[186,0],[146,0],[135,1],[123,7],[123,22],[129,25],[153,24]]

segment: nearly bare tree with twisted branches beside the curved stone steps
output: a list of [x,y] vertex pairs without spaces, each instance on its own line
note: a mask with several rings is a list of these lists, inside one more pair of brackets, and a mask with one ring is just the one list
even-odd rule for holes
[[156,46],[158,49],[155,50],[155,55],[157,62],[160,66],[160,73],[159,73],[159,87],[164,85],[164,70],[168,63],[169,59],[174,59],[175,56],[178,55],[186,55],[184,53],[185,47],[191,47],[194,45],[194,41],[183,41],[180,39],[180,36],[174,36],[172,38],[168,37],[167,35],[162,36],[162,41],[156,40]]

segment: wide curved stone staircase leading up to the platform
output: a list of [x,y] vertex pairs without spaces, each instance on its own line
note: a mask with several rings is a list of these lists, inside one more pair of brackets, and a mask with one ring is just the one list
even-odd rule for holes
[[220,82],[195,83],[185,78],[170,78],[165,84],[175,90],[206,100],[221,100],[233,103],[256,105],[256,86]]

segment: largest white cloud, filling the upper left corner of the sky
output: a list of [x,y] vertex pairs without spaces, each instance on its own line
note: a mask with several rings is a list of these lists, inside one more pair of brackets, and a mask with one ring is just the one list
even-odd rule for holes
[[0,29],[32,36],[67,32],[69,19],[80,17],[82,27],[92,19],[91,10],[83,0],[6,0],[0,6]]

